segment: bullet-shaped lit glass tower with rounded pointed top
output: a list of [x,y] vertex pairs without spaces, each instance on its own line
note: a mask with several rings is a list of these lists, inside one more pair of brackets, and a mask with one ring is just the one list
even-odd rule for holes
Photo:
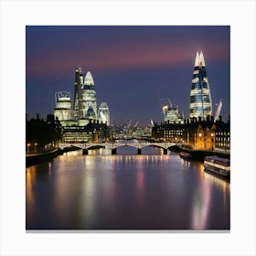
[[82,117],[97,120],[96,91],[90,71],[86,73],[84,78],[82,90]]

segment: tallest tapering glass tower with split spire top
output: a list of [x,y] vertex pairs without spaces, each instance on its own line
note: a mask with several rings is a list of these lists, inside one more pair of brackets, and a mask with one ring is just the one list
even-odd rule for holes
[[197,52],[190,91],[190,118],[212,116],[212,103],[203,52]]

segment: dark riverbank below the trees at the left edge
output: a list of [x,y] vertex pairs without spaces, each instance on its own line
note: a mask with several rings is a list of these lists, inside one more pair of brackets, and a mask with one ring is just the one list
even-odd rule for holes
[[38,153],[38,154],[27,154],[26,155],[26,167],[31,165],[38,165],[43,162],[48,162],[58,155],[62,155],[63,151],[59,148],[55,148],[51,151]]

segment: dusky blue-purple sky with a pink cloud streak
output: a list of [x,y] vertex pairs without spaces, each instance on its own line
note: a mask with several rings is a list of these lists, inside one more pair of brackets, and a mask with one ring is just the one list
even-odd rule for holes
[[[114,124],[163,122],[169,99],[189,118],[189,93],[197,51],[203,51],[213,102],[230,112],[228,26],[28,26],[28,119],[54,112],[56,91],[70,91],[75,68],[91,71],[97,104],[106,101]],[[164,100],[162,100],[164,99]]]

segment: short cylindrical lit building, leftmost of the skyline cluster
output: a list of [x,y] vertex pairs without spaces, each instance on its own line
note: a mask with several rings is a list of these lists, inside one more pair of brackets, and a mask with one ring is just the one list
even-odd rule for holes
[[59,122],[70,120],[71,115],[71,97],[69,91],[58,91],[55,93],[55,109],[54,117],[58,118]]

